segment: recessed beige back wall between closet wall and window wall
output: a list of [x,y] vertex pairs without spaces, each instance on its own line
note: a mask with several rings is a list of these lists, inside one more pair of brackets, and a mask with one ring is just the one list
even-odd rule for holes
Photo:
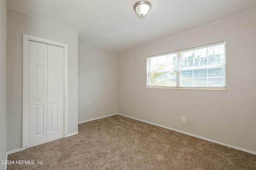
[[[87,104],[90,100],[90,104]],[[117,53],[79,43],[79,122],[117,113]]]

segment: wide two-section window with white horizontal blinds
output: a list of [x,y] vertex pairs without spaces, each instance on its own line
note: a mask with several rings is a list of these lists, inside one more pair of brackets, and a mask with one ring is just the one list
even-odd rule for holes
[[225,42],[148,57],[147,87],[225,90]]

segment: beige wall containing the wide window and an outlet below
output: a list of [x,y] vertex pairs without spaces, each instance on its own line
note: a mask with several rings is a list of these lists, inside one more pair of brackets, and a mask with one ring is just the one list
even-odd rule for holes
[[[119,52],[118,113],[256,152],[255,30],[256,8]],[[226,91],[146,88],[146,57],[220,41]]]

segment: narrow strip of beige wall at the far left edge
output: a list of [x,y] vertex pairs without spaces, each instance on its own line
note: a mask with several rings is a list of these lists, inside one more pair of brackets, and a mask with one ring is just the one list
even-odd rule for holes
[[[0,0],[0,160],[6,159],[6,0]],[[0,169],[4,165],[0,164]]]

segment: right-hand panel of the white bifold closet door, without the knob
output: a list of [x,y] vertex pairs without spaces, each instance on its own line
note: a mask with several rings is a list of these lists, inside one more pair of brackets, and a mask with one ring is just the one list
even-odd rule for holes
[[48,45],[47,142],[63,137],[63,48]]

